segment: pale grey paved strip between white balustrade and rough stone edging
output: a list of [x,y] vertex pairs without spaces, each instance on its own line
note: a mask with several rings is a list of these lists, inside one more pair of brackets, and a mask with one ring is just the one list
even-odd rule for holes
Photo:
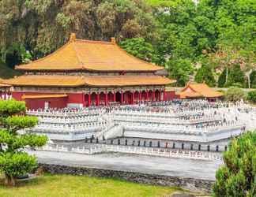
[[160,158],[138,154],[73,154],[51,151],[33,151],[39,162],[58,165],[85,166],[128,172],[152,173],[174,177],[214,180],[220,161],[183,158]]

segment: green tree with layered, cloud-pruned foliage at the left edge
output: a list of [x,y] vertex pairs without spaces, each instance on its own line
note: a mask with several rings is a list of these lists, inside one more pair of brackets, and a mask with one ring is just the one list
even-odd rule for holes
[[8,185],[15,185],[16,177],[36,168],[36,157],[26,153],[24,148],[34,150],[47,142],[47,136],[24,130],[37,124],[36,117],[24,113],[24,102],[0,100],[0,172],[5,174]]

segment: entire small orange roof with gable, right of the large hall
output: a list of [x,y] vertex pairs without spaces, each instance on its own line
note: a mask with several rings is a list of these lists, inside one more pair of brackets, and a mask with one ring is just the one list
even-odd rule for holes
[[[187,91],[190,90],[190,91]],[[214,91],[213,88],[209,87],[207,84],[196,84],[196,83],[188,83],[186,87],[179,94],[181,98],[196,98],[196,97],[204,97],[204,98],[217,98],[223,96],[223,93],[219,91]]]

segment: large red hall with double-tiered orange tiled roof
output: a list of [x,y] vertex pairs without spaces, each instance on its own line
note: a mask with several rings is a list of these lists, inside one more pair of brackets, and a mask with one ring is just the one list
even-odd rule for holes
[[14,99],[28,109],[134,104],[175,96],[164,68],[127,54],[116,43],[76,39],[54,53],[16,69],[23,76],[5,80]]

